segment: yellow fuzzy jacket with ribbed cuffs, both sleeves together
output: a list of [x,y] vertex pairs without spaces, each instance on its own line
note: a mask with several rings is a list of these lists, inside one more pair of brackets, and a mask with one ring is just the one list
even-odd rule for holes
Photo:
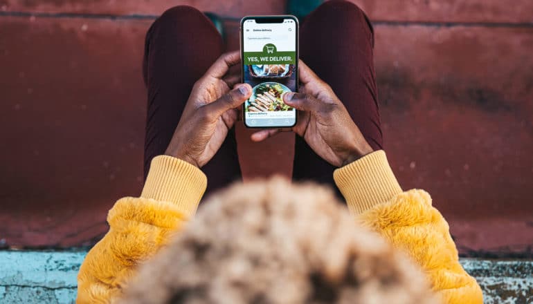
[[[442,215],[422,190],[403,192],[383,151],[334,172],[338,189],[356,220],[406,251],[431,281],[443,303],[482,303],[481,289],[458,261]],[[109,232],[85,258],[78,274],[77,303],[110,303],[194,215],[206,175],[170,156],[152,161],[140,198],[122,198],[109,211]]]

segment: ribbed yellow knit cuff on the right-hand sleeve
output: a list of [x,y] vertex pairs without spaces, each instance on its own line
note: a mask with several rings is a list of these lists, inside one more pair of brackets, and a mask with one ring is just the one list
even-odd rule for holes
[[401,192],[387,161],[385,151],[372,152],[345,167],[333,178],[352,214],[360,214]]

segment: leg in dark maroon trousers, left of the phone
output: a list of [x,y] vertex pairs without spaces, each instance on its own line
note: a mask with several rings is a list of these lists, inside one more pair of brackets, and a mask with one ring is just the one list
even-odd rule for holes
[[[167,10],[148,30],[143,61],[148,91],[145,177],[152,158],[167,149],[192,86],[223,50],[222,37],[213,23],[189,6]],[[208,192],[240,178],[233,129],[202,171],[208,177]]]

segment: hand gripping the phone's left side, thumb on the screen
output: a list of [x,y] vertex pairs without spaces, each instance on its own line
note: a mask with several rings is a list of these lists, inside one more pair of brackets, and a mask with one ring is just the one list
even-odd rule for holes
[[228,75],[239,62],[238,51],[226,53],[195,83],[165,155],[203,167],[217,153],[237,120],[236,108],[252,93],[249,84],[237,84],[238,75]]

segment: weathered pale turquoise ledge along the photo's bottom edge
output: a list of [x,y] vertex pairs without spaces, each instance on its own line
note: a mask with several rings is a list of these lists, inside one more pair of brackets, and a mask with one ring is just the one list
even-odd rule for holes
[[[0,251],[0,303],[74,303],[87,251]],[[533,303],[533,260],[462,258],[485,304]]]

